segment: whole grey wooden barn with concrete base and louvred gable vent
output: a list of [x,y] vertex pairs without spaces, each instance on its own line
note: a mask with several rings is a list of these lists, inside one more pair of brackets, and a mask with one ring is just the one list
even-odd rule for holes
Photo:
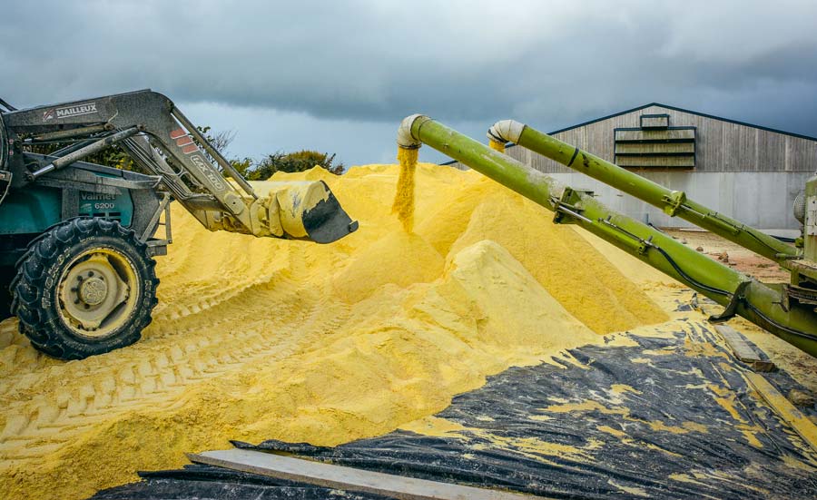
[[[551,135],[760,229],[800,227],[792,202],[817,171],[817,138],[660,103]],[[606,205],[639,221],[691,225],[535,152],[510,146],[507,154],[570,186],[595,191]]]

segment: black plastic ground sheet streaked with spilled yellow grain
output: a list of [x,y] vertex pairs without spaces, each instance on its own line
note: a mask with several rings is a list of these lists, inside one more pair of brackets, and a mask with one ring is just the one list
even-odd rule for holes
[[[510,368],[436,416],[458,429],[453,434],[433,431],[431,419],[432,435],[397,430],[333,448],[234,445],[552,498],[817,497],[817,456],[753,394],[745,367],[714,335],[706,323],[689,321],[663,337],[630,336],[637,345],[586,346],[561,364]],[[784,372],[767,375],[783,393],[797,387]],[[218,495],[227,491],[243,496]],[[329,493],[191,466],[143,473],[142,482],[94,498]]]

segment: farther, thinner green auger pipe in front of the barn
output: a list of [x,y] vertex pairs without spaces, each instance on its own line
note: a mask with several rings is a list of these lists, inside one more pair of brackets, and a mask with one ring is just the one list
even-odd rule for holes
[[692,222],[743,248],[774,260],[783,267],[787,267],[789,260],[799,256],[799,251],[792,245],[710,210],[700,203],[688,200],[684,191],[671,191],[661,184],[634,172],[626,171],[615,163],[607,162],[595,154],[559,141],[529,125],[514,120],[502,120],[491,126],[488,136],[497,142],[514,142],[576,172],[584,173],[615,189],[625,191],[639,200],[658,207],[670,217],[680,217],[684,221]]

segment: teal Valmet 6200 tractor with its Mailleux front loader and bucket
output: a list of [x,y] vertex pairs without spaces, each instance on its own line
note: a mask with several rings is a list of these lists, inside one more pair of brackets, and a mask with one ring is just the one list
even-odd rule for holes
[[[322,181],[253,190],[161,93],[0,105],[3,305],[55,358],[140,338],[157,303],[153,258],[172,242],[172,201],[209,230],[256,237],[330,243],[358,227]],[[132,160],[122,169],[84,162],[114,145]]]

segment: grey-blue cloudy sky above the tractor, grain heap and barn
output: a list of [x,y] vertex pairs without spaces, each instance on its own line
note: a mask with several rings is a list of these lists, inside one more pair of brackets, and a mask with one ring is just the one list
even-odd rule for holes
[[[425,113],[482,138],[661,102],[817,136],[815,1],[6,0],[0,97],[150,87],[233,156],[392,162]],[[424,148],[421,159],[444,160]]]

